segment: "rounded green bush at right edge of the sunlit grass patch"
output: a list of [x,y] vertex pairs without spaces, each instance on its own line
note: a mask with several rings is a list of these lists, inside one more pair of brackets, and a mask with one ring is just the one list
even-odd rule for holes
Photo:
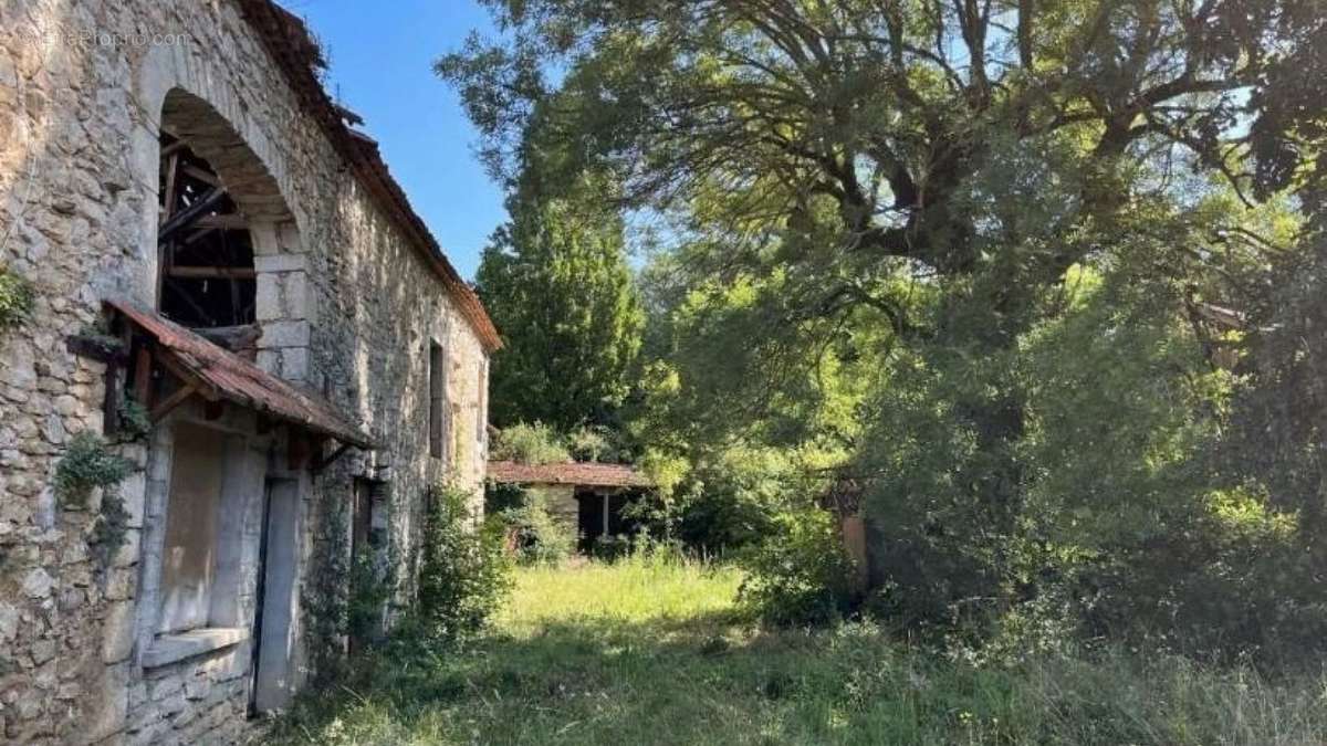
[[852,563],[827,511],[775,516],[766,540],[738,561],[747,571],[739,599],[767,623],[825,624],[852,611]]

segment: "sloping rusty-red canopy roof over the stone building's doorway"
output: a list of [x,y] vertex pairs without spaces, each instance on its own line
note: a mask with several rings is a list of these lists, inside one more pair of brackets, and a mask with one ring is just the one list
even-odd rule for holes
[[153,337],[154,354],[183,377],[191,378],[206,394],[299,425],[314,434],[336,438],[345,445],[374,447],[373,441],[326,400],[295,388],[134,301],[109,299],[105,303]]

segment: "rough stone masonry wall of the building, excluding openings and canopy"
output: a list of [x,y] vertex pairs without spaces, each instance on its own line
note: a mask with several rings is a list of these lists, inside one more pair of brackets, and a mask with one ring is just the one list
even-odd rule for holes
[[[149,496],[162,488],[165,430],[151,447],[122,447],[137,470],[118,490],[123,547],[104,564],[89,552],[98,496],[65,510],[52,490],[69,438],[102,430],[105,369],[69,353],[66,337],[93,324],[110,293],[157,300],[169,101],[203,102],[215,115],[198,137],[244,145],[227,150],[235,163],[212,165],[255,219],[259,362],[325,396],[381,446],[304,477],[301,592],[312,563],[346,551],[348,531],[341,542],[312,527],[346,512],[353,477],[390,486],[401,558],[431,482],[451,479],[482,506],[486,350],[235,3],[0,0],[0,261],[37,292],[31,317],[0,332],[0,738],[11,742],[226,741],[244,727],[245,644],[143,665],[141,591],[157,583],[147,539],[162,519]],[[427,455],[430,340],[450,366],[442,461]],[[269,449],[279,459],[280,443]]]

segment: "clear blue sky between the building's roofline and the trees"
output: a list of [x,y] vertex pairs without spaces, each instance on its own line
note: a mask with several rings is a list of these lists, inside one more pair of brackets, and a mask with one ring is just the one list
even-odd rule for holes
[[506,218],[502,190],[475,159],[476,133],[433,62],[471,29],[491,32],[474,0],[280,0],[330,57],[329,93],[364,117],[391,174],[443,251],[474,279],[479,250]]

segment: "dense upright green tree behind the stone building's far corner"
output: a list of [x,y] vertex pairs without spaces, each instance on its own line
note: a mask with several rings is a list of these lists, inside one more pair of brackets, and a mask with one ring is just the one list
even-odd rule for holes
[[504,337],[494,358],[499,425],[604,423],[629,390],[642,315],[622,222],[588,199],[514,198],[484,248],[478,291]]

